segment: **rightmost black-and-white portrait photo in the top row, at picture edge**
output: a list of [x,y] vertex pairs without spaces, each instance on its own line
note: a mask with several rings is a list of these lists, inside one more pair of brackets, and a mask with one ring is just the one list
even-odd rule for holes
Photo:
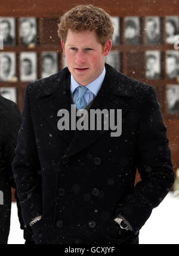
[[174,44],[178,40],[179,19],[178,16],[167,16],[165,23],[166,43]]

